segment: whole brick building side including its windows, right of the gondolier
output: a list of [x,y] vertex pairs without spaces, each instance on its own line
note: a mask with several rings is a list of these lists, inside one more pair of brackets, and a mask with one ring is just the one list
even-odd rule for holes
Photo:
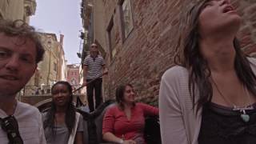
[[[242,49],[256,53],[256,2],[231,0],[242,15],[238,33]],[[94,0],[94,42],[106,51],[109,69],[104,95],[114,98],[115,88],[131,83],[138,100],[157,104],[162,74],[174,65],[174,42],[179,14],[186,0]]]

